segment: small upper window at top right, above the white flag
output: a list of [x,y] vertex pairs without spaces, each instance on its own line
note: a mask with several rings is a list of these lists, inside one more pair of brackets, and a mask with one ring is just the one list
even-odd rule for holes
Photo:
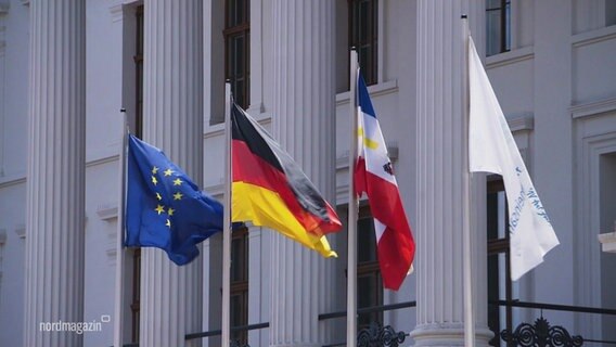
[[511,0],[486,0],[486,54],[511,50]]

